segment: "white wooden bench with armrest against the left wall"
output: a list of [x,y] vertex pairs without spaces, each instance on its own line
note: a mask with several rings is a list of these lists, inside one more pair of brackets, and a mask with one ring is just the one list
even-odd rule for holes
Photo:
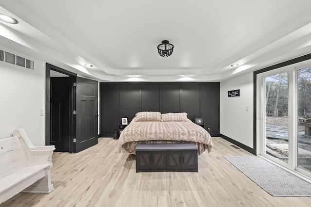
[[0,140],[0,204],[19,192],[50,193],[51,146],[34,146],[23,128]]

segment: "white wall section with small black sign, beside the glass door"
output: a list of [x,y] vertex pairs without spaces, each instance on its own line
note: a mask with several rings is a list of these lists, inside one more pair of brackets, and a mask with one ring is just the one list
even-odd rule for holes
[[[220,133],[253,148],[253,73],[220,82]],[[240,89],[240,96],[228,91]],[[248,106],[248,111],[246,111]]]

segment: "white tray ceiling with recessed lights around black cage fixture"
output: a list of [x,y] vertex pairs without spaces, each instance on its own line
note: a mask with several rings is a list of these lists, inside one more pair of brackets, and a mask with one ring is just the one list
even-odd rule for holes
[[[311,53],[311,0],[0,0],[0,6],[19,22],[0,23],[0,46],[100,81],[221,81]],[[162,40],[174,45],[170,57],[157,53]]]

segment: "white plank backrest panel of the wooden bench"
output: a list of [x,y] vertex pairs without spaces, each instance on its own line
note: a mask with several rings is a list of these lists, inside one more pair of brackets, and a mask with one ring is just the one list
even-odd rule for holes
[[25,156],[18,137],[0,140],[0,178],[26,167]]

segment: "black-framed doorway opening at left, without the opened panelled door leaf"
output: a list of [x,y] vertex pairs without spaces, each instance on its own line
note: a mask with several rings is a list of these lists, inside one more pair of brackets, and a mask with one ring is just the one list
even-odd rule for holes
[[55,145],[55,152],[75,152],[75,89],[76,74],[46,64],[46,144]]

